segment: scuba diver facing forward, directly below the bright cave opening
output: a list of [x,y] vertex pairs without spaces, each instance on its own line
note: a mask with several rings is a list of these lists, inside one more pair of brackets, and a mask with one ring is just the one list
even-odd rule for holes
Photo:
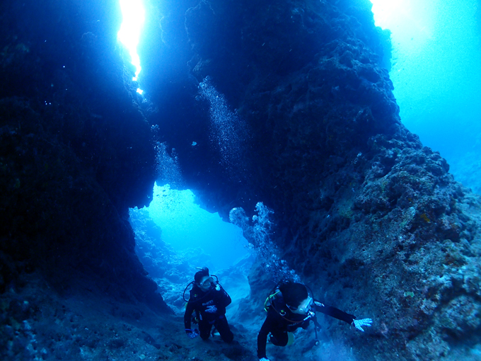
[[[209,276],[207,267],[202,268],[195,274],[194,281],[190,282],[189,285],[192,284],[189,300],[184,299],[187,302],[184,314],[185,333],[190,338],[195,338],[199,332],[202,340],[207,340],[211,328],[214,326],[219,331],[222,340],[231,343],[234,336],[226,319],[226,306],[231,304],[231,297],[219,285],[219,281],[214,282],[214,279]],[[187,287],[185,290],[187,290]],[[199,331],[192,330],[190,326],[194,311],[199,322]]]

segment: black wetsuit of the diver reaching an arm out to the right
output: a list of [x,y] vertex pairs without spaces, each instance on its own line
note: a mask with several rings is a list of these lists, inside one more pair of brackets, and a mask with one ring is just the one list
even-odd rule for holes
[[[315,311],[332,316],[335,319],[345,321],[349,324],[356,319],[352,314],[347,314],[335,307],[325,306],[324,304],[314,300]],[[281,314],[283,316],[281,316]],[[285,346],[288,341],[288,332],[296,331],[297,328],[308,328],[312,318],[307,315],[294,314],[286,304],[282,297],[277,297],[272,301],[271,306],[267,309],[267,318],[260,328],[257,336],[257,357],[260,359],[266,357],[265,347],[267,336],[271,333],[270,341],[277,346]]]

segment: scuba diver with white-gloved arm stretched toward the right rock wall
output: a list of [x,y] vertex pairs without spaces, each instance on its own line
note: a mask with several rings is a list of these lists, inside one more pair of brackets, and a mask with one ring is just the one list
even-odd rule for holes
[[[311,292],[312,295],[312,292]],[[270,303],[269,306],[267,304]],[[371,326],[371,319],[357,320],[352,314],[347,314],[332,306],[325,306],[309,296],[308,289],[301,283],[290,281],[281,282],[271,292],[265,301],[267,318],[260,328],[257,336],[257,357],[261,361],[269,361],[265,353],[267,336],[270,334],[270,342],[276,346],[291,345],[294,342],[294,334],[297,328],[308,328],[309,322],[315,323],[315,343],[318,343],[318,322],[315,311],[332,316],[335,319],[347,322],[363,331],[362,326]]]

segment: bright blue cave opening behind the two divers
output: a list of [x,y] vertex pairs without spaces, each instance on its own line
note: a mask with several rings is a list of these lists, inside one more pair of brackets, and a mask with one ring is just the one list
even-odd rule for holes
[[137,256],[172,309],[183,313],[185,287],[198,268],[207,267],[228,290],[233,301],[228,311],[235,312],[249,292],[255,260],[242,229],[202,209],[192,190],[157,183],[149,207],[131,209],[130,222]]

